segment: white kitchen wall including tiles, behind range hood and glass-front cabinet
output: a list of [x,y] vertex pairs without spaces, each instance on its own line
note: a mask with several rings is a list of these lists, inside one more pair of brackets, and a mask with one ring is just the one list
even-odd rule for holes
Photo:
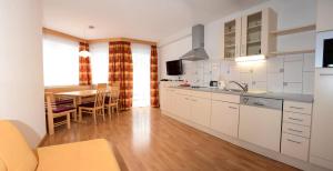
[[[276,58],[278,60],[270,59],[262,64],[238,66],[235,62],[222,60],[222,33],[225,21],[253,13],[266,7],[276,11],[278,29],[315,23],[315,4],[314,0],[271,0],[251,9],[205,23],[205,50],[210,56],[210,60],[185,62],[185,73],[182,78],[195,84],[208,86],[210,80],[219,80],[220,77],[223,77],[229,80],[248,82],[252,89],[274,92],[312,93],[314,54],[279,57]],[[191,29],[181,30],[159,43],[160,78],[174,79],[174,77],[165,74],[165,61],[179,59],[181,54],[191,49],[191,37],[189,34],[191,34]],[[279,51],[314,49],[314,44],[315,31],[284,36],[278,39]],[[279,70],[269,69],[272,64],[278,66]],[[292,69],[289,70],[289,68]],[[283,70],[286,70],[286,72],[283,72]],[[296,74],[290,77],[289,72]]]

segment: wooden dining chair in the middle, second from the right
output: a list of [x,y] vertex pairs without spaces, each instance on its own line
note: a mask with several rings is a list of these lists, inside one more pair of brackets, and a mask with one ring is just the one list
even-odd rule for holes
[[97,124],[97,115],[100,114],[105,120],[104,114],[105,89],[98,89],[94,102],[83,103],[79,105],[79,121],[82,121],[82,112],[90,113],[93,117],[93,122]]

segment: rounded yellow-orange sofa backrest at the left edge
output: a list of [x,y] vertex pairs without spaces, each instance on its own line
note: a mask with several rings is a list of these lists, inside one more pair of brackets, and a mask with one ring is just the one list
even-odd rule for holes
[[0,160],[7,170],[36,170],[38,164],[36,155],[23,135],[11,122],[0,120]]

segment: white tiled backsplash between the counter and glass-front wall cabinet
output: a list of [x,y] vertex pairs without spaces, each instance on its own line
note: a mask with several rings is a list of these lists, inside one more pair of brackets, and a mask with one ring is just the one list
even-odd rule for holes
[[286,93],[313,93],[314,54],[291,54],[256,63],[234,61],[183,61],[184,76],[195,86],[208,87],[211,80],[245,82],[250,90]]

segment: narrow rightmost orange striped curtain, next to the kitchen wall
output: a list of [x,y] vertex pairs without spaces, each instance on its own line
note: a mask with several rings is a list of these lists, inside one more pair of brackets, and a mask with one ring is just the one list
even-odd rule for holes
[[150,52],[150,104],[159,108],[159,73],[158,73],[158,48],[151,46]]

